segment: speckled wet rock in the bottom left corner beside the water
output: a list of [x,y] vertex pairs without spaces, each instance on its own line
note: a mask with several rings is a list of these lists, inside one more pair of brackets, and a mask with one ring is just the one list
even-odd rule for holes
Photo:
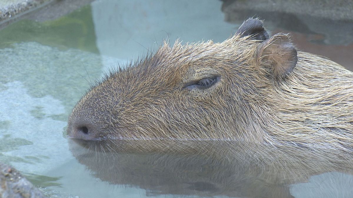
[[0,163],[0,197],[46,197],[22,174],[11,166]]

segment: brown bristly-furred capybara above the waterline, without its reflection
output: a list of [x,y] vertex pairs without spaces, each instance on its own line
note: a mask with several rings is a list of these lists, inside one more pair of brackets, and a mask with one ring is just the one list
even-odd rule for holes
[[[353,143],[353,75],[248,19],[222,43],[173,47],[111,72],[74,107],[81,140],[233,140],[340,148]],[[165,147],[167,149],[167,147]]]

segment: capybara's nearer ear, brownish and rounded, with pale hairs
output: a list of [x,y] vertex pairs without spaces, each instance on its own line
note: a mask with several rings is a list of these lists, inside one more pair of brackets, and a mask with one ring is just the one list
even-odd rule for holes
[[297,50],[284,33],[278,33],[261,43],[256,50],[256,57],[261,67],[269,67],[274,79],[287,76],[298,61]]

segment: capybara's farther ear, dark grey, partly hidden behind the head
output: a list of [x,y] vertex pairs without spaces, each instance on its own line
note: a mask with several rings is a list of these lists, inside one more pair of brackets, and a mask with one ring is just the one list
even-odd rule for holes
[[267,31],[263,27],[262,21],[253,18],[249,18],[244,21],[244,23],[241,24],[235,35],[240,35],[241,37],[251,36],[251,39],[262,41],[265,41],[269,38]]

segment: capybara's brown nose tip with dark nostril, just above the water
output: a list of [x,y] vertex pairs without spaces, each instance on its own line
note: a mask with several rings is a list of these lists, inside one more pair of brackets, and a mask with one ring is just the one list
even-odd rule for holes
[[96,125],[87,122],[72,122],[67,126],[67,137],[82,140],[101,140],[99,138],[99,129]]

